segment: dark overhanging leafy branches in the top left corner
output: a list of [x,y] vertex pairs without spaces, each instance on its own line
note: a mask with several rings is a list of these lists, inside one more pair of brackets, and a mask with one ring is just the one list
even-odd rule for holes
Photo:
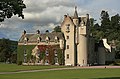
[[26,5],[23,3],[23,0],[1,0],[0,1],[0,22],[4,21],[6,18],[11,18],[13,15],[18,15],[22,17],[23,9],[26,8]]

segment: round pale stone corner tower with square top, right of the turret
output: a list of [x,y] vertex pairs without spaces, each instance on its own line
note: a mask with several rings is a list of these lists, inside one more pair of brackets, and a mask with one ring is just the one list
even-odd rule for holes
[[77,65],[88,65],[88,40],[89,40],[89,14],[80,17],[78,27]]

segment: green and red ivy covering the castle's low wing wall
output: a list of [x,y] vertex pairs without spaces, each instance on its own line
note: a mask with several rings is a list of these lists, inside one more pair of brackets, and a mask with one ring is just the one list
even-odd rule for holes
[[[32,55],[32,50],[35,47],[35,45],[19,45],[17,50],[17,63],[22,64],[22,62],[24,62],[24,51],[27,54],[26,62],[30,62],[30,60],[35,62],[36,58]],[[56,50],[59,65],[64,63],[63,51],[60,49],[59,45],[38,45],[38,49],[40,50],[39,61],[43,60],[43,63],[45,63],[45,60],[47,59],[49,60],[49,64],[55,64],[54,51]],[[49,56],[46,56],[46,49],[49,52]]]

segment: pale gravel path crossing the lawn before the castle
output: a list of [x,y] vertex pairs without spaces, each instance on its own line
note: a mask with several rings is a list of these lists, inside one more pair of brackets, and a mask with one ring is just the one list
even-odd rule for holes
[[87,66],[87,67],[68,67],[68,68],[53,68],[53,69],[43,69],[43,70],[27,70],[27,71],[17,71],[17,72],[0,72],[1,74],[16,74],[16,73],[26,73],[26,72],[43,72],[43,71],[54,71],[54,70],[70,70],[70,69],[96,69],[96,68],[120,68],[120,66]]

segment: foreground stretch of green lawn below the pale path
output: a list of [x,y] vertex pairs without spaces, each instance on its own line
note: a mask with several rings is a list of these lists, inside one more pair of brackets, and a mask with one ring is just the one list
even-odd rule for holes
[[120,79],[120,69],[73,69],[0,75],[0,79]]

